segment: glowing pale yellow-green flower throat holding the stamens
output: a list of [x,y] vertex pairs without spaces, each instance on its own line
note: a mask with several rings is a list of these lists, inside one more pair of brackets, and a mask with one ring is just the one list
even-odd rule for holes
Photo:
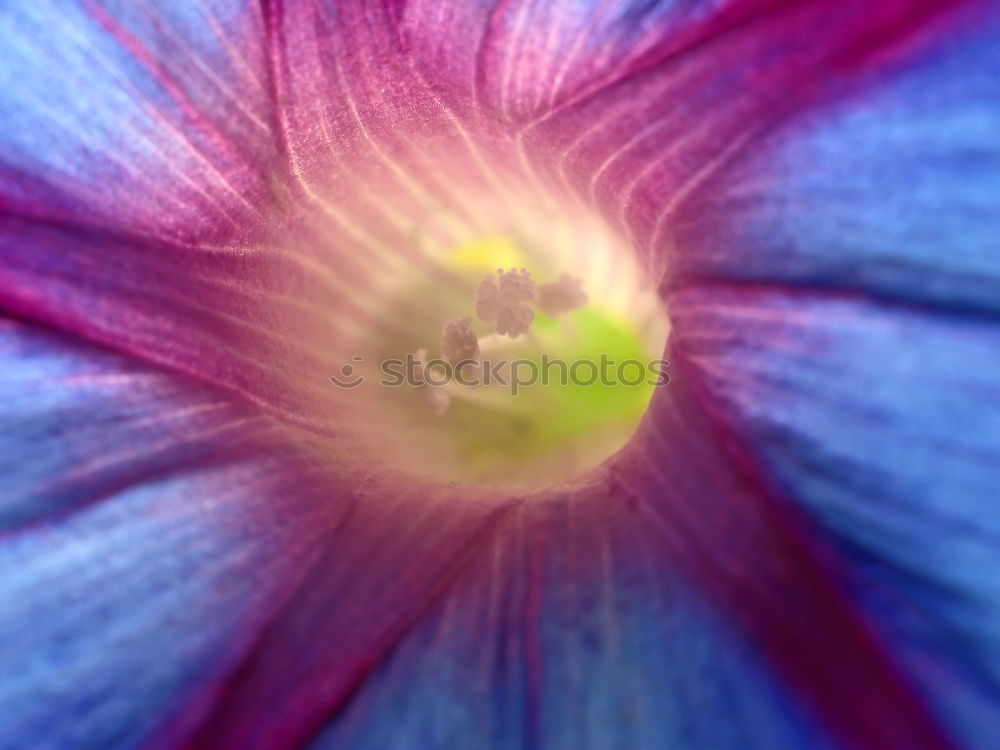
[[665,380],[659,300],[602,226],[554,229],[569,233],[437,249],[389,296],[365,353],[378,378],[366,394],[390,425],[397,468],[540,489],[598,465],[635,430]]

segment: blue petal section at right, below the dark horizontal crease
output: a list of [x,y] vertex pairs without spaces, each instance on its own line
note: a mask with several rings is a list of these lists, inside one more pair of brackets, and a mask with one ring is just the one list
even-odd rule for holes
[[870,622],[964,746],[1000,739],[1000,331],[850,295],[674,296],[677,357],[831,538]]

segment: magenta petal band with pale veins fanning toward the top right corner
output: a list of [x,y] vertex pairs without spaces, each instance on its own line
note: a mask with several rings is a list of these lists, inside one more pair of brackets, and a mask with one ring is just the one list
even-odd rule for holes
[[[779,3],[521,129],[526,159],[602,210],[657,274],[689,196],[781,123],[954,35],[957,3]],[[966,19],[967,20],[967,19]],[[686,238],[685,238],[686,239]],[[686,252],[684,250],[683,252]]]

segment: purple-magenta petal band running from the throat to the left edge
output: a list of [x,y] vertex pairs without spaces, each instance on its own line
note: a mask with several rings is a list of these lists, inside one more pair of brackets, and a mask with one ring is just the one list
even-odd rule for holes
[[345,303],[331,301],[327,276],[308,275],[300,257],[206,252],[9,215],[0,216],[0,252],[0,305],[10,313],[224,386],[291,421],[323,415],[341,360],[314,339],[343,337],[331,313]]

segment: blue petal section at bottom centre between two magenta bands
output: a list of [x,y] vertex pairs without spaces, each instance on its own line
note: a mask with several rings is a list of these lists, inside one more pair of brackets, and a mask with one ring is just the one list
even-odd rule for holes
[[622,500],[519,511],[310,747],[837,746]]

